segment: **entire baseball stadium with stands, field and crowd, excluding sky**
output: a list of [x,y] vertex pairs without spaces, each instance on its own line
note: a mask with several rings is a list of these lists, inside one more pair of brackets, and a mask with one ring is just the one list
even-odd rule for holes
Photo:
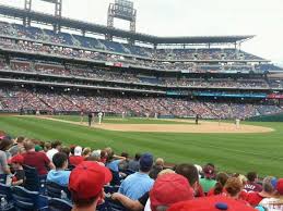
[[[283,197],[283,69],[243,50],[256,35],[155,36],[137,32],[146,11],[132,1],[111,1],[107,25],[63,16],[62,0],[37,1],[54,13],[0,3],[0,210],[198,210],[198,200],[201,211],[229,210],[213,200],[283,210],[270,209]],[[181,209],[174,203],[191,199],[179,196],[182,178],[201,199]],[[238,181],[245,203],[226,197]],[[89,200],[103,187],[110,197]]]

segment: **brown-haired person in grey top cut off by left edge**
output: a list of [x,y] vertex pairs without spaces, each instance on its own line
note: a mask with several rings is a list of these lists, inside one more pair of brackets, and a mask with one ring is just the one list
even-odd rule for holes
[[0,174],[11,174],[8,165],[8,149],[13,145],[13,140],[7,136],[0,138]]

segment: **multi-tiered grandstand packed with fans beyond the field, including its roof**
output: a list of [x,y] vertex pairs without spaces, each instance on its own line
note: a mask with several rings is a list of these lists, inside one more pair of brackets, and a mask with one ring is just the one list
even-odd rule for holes
[[246,119],[283,111],[282,70],[240,49],[253,36],[157,37],[61,13],[0,5],[0,14],[23,21],[0,22],[1,112]]

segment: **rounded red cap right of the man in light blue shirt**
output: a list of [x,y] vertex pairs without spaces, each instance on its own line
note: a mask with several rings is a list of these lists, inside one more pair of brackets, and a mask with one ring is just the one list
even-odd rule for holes
[[156,211],[158,206],[168,207],[192,198],[193,189],[188,179],[175,173],[158,176],[150,191],[152,211]]

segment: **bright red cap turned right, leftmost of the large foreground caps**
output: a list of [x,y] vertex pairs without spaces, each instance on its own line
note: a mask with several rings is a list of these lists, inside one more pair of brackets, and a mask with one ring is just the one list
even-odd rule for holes
[[69,189],[79,199],[98,196],[113,178],[111,172],[93,161],[83,161],[71,172]]

